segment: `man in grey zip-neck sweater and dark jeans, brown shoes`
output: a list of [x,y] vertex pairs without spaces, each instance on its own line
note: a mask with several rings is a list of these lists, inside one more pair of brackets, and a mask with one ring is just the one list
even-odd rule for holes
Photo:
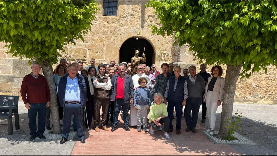
[[[193,133],[197,133],[195,127],[198,119],[199,107],[202,104],[202,92],[205,89],[204,78],[200,75],[196,75],[196,67],[189,67],[190,75],[187,78],[188,85],[188,99],[186,101],[186,132],[190,130]],[[192,116],[191,116],[192,110]]]

